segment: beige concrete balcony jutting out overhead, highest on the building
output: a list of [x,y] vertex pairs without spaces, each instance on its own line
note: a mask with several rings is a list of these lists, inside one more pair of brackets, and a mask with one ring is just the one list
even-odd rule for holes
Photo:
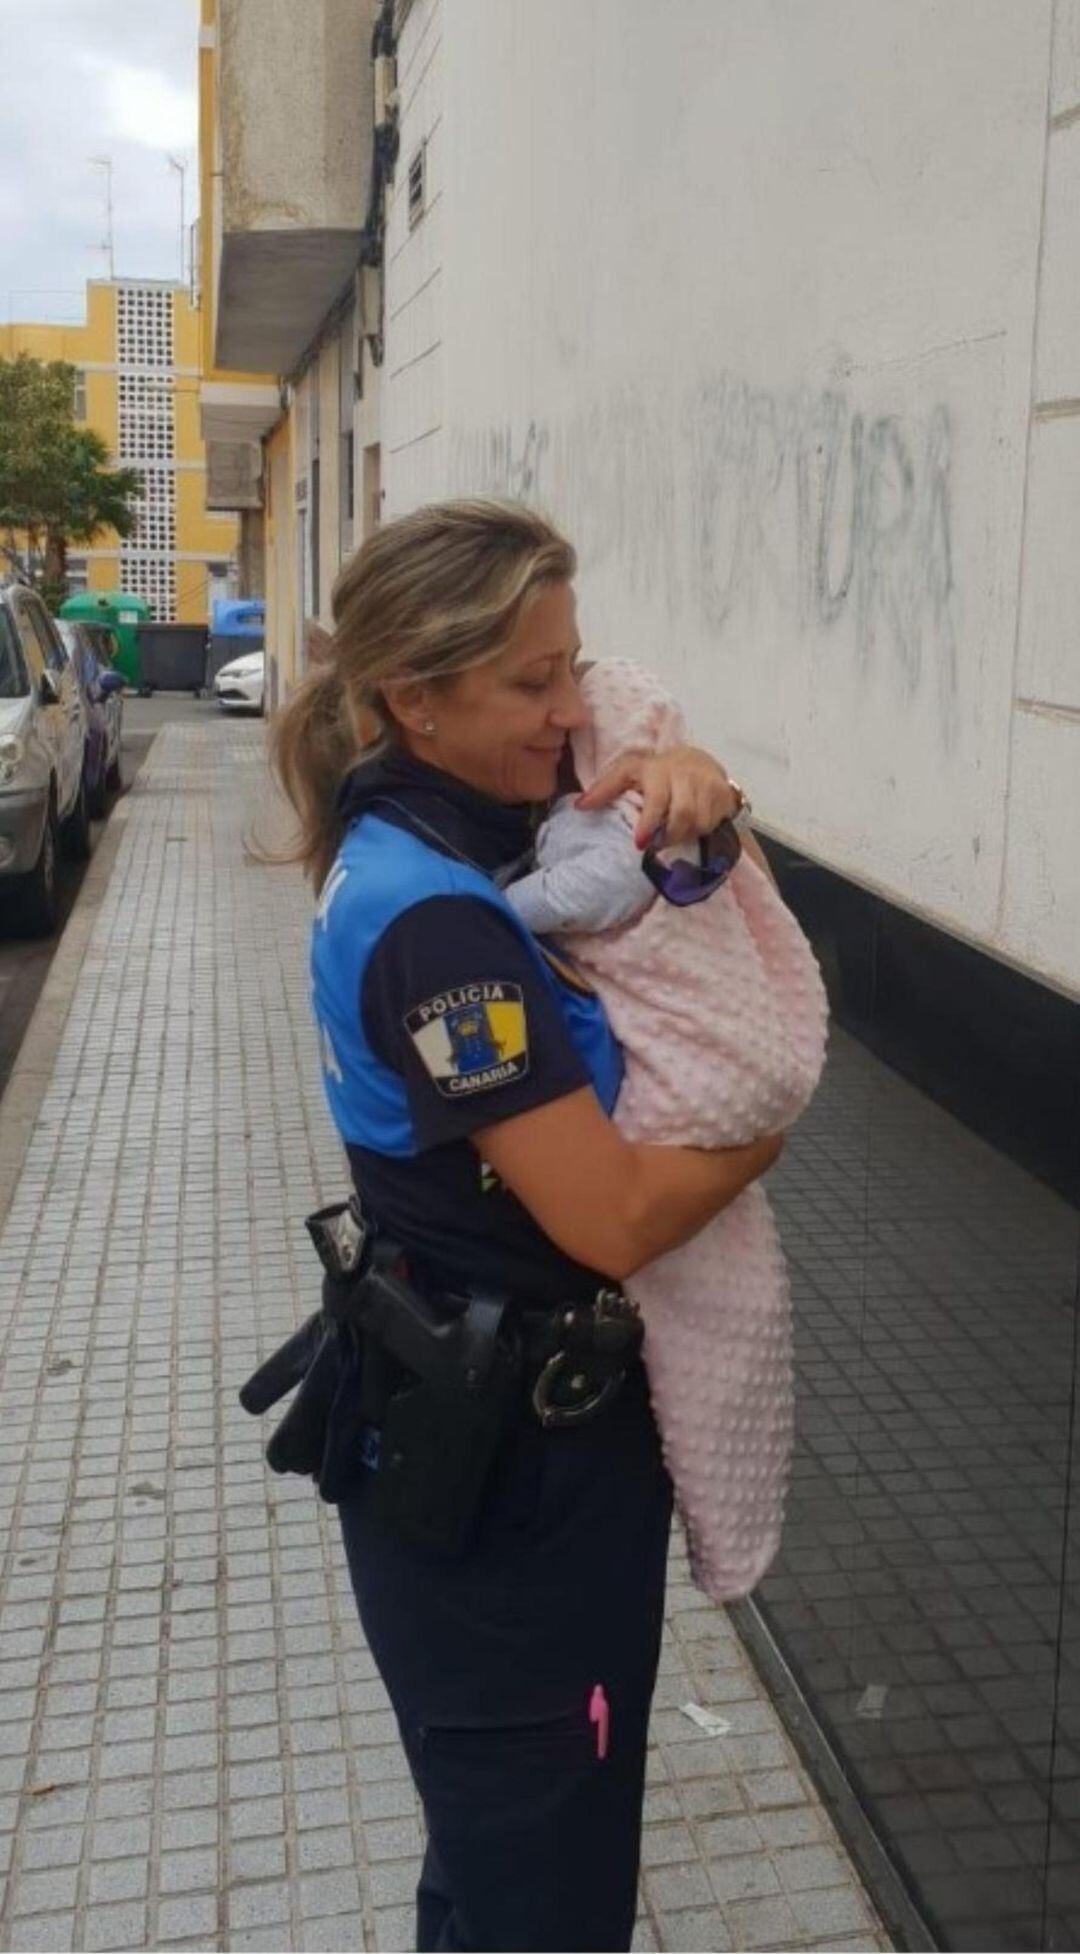
[[215,363],[289,373],[355,268],[379,0],[221,0]]

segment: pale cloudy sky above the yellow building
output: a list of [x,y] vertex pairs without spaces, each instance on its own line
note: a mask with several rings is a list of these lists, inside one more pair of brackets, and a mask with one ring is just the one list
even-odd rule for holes
[[82,317],[107,277],[113,158],[117,277],[180,276],[180,180],[197,178],[197,0],[0,0],[0,319]]

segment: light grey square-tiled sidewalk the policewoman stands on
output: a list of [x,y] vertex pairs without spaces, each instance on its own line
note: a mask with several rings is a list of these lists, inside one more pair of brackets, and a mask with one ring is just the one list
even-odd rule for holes
[[[412,1944],[416,1804],[334,1512],[236,1405],[344,1186],[311,901],[242,854],[266,799],[262,727],[166,727],[49,979],[0,1233],[2,1948]],[[891,1944],[680,1548],[652,1739],[641,1948]]]

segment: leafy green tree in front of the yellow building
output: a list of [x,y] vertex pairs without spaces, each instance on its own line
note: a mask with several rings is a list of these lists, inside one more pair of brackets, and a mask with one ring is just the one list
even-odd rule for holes
[[143,477],[107,463],[102,436],[76,426],[72,365],[29,354],[0,360],[0,530],[10,563],[25,567],[51,604],[66,596],[70,543],[135,530]]

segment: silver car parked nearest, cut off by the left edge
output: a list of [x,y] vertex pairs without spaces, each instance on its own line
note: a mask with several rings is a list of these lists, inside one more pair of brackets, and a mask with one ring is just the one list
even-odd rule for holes
[[90,854],[86,707],[41,598],[0,584],[0,899],[23,928],[57,924],[57,842]]

